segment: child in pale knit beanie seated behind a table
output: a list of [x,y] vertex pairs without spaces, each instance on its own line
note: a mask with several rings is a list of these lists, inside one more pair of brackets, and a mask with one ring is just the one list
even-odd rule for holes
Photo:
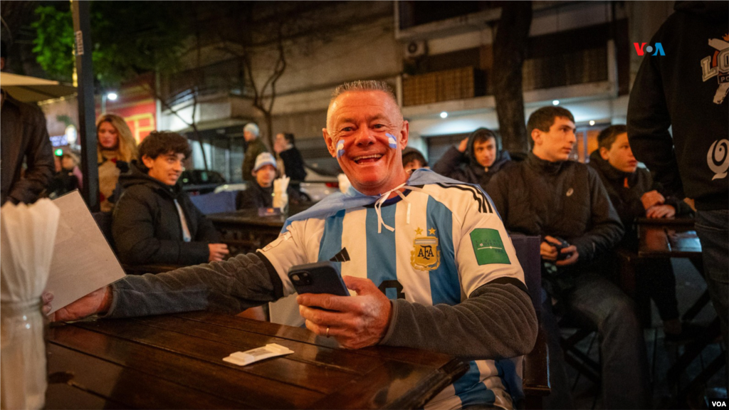
[[[276,179],[276,158],[268,152],[256,157],[253,167],[254,182],[249,182],[246,190],[235,197],[236,209],[258,209],[273,207],[273,179]],[[289,204],[300,204],[301,198],[297,190],[289,185],[286,190]]]

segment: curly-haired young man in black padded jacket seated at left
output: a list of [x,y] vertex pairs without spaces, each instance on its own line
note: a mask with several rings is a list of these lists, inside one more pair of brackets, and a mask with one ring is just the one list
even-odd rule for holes
[[195,265],[222,260],[227,245],[177,180],[191,153],[180,134],[153,131],[139,145],[139,162],[120,176],[112,235],[122,263]]

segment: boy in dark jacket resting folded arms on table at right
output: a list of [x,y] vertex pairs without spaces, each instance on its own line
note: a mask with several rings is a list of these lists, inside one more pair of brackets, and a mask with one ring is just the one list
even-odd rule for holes
[[[628,144],[628,129],[625,125],[605,128],[597,140],[599,148],[590,155],[590,166],[600,175],[610,201],[625,227],[621,247],[630,252],[638,252],[636,218],[691,216],[692,212],[687,204],[667,194],[664,196],[660,192],[661,187],[653,182],[650,172],[638,168],[638,160]],[[650,295],[658,307],[666,340],[679,341],[690,336],[691,328],[682,328],[679,320],[676,278],[671,260],[655,259],[650,260],[650,263],[639,263],[636,274],[639,292]]]

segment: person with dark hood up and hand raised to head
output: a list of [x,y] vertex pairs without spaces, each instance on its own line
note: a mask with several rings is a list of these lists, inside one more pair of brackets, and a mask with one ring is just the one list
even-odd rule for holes
[[509,152],[502,150],[501,136],[488,128],[478,128],[459,147],[449,148],[433,171],[486,189],[491,177],[510,160]]

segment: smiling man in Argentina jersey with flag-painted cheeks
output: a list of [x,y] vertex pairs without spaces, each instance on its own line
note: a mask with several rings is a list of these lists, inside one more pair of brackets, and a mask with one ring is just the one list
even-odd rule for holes
[[337,260],[356,295],[298,295],[306,328],[348,349],[414,347],[469,361],[467,374],[425,409],[512,409],[512,398],[521,397],[521,361],[508,358],[529,352],[537,336],[522,268],[482,190],[429,170],[405,174],[408,133],[386,83],[341,85],[323,134],[351,181],[346,194],[290,217],[284,233],[255,254],[128,276],[55,319],[241,312],[292,295],[292,266]]

